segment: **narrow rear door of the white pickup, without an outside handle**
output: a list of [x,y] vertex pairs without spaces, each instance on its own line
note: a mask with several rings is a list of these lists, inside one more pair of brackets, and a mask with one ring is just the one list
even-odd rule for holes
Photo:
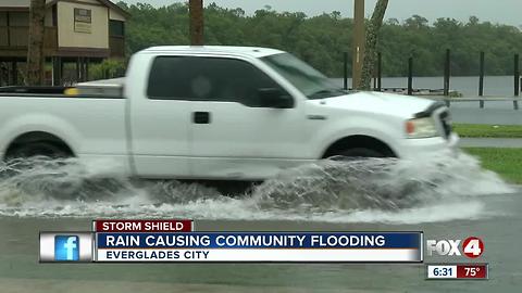
[[[140,55],[130,66],[129,149],[135,173],[150,178],[189,178],[190,105],[184,85],[187,77],[178,59]],[[149,74],[150,73],[150,74]]]

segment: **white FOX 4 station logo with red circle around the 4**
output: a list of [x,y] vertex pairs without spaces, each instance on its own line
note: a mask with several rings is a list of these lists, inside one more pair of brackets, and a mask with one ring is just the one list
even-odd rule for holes
[[[460,243],[462,242],[462,245]],[[461,250],[465,256],[476,258],[484,253],[484,242],[476,237],[469,237],[461,240],[426,240],[426,250],[428,255],[437,253],[438,255],[461,256]]]

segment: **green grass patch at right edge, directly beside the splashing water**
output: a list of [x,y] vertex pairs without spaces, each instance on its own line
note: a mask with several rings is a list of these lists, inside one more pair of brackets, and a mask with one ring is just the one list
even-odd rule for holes
[[464,148],[477,156],[482,166],[500,175],[511,183],[522,184],[522,149]]

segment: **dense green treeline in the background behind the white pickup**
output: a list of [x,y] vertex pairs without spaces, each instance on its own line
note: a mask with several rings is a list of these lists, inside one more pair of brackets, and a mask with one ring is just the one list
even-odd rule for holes
[[[188,43],[188,7],[175,3],[154,8],[138,3],[126,9],[127,53],[156,44]],[[393,3],[391,3],[393,5]],[[343,75],[343,52],[349,52],[351,73],[352,20],[339,12],[307,17],[303,13],[275,12],[270,7],[246,15],[241,9],[210,4],[204,11],[206,43],[263,46],[289,51],[330,76]],[[378,43],[385,76],[406,76],[407,60],[414,58],[415,76],[443,75],[446,48],[452,51],[452,75],[477,75],[480,51],[486,52],[486,74],[512,73],[513,54],[522,50],[522,31],[512,26],[438,18],[430,25],[413,15],[399,23],[388,20]]]

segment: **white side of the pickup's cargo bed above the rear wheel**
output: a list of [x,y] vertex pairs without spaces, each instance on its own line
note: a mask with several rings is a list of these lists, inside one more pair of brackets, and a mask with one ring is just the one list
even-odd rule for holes
[[69,145],[80,158],[110,156],[128,165],[127,100],[122,94],[70,95],[46,90],[42,93],[40,88],[35,93],[35,88],[26,88],[25,92],[21,87],[11,88],[11,92],[0,89],[0,157],[21,135],[46,131],[64,141],[80,141]]

